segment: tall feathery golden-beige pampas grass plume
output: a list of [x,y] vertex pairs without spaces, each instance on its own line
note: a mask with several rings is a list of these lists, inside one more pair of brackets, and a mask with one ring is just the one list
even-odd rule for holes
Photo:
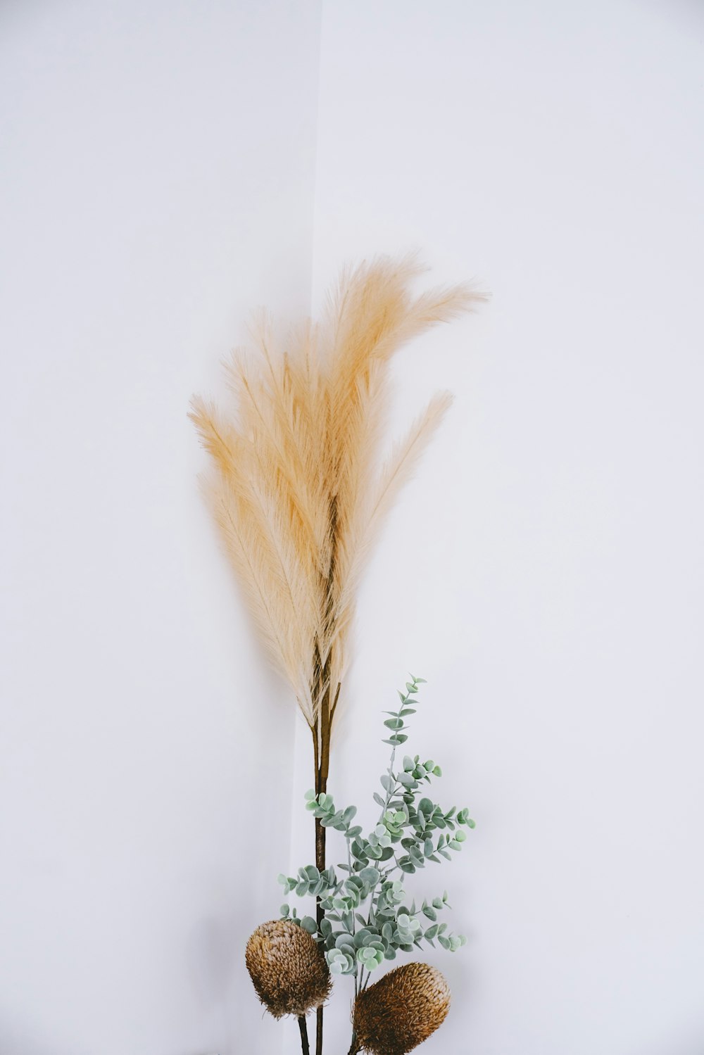
[[226,552],[323,755],[364,559],[451,402],[434,397],[379,467],[389,362],[412,338],[483,300],[468,286],[414,295],[422,270],[406,256],[343,271],[320,324],[301,326],[285,350],[262,314],[254,353],[236,352],[226,366],[233,411],[192,404]]

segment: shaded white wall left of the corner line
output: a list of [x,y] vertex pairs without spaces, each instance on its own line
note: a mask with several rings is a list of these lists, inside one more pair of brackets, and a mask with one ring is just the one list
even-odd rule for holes
[[186,411],[253,305],[308,310],[319,26],[308,0],[0,9],[2,1055],[281,1037],[244,942],[293,712]]

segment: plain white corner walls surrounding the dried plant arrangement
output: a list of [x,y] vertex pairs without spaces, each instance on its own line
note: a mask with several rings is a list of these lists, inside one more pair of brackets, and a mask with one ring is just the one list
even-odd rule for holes
[[395,423],[457,401],[362,590],[331,789],[368,801],[379,711],[427,677],[412,746],[477,821],[416,886],[470,939],[429,957],[455,994],[429,1055],[701,1055],[701,5],[0,27],[0,1050],[297,1050],[242,952],[291,822],[311,857],[307,734],[292,768],[185,409],[251,306],[418,247],[493,295],[396,364]]

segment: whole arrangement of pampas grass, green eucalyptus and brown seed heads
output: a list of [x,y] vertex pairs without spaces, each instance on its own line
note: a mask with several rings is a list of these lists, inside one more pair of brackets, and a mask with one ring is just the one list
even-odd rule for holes
[[[283,350],[262,315],[256,354],[237,352],[226,364],[233,409],[196,398],[190,415],[211,458],[207,497],[226,552],[311,733],[316,863],[281,879],[288,891],[316,898],[316,917],[300,920],[282,906],[283,919],[259,927],[246,951],[265,1005],[275,1017],[298,1018],[304,1055],[306,1015],[313,1010],[316,1055],[323,1052],[330,973],[355,979],[353,1055],[411,1051],[446,1014],[444,979],[423,963],[397,967],[367,987],[369,974],[422,939],[437,937],[451,951],[462,943],[435,922],[445,896],[406,907],[401,884],[389,878],[396,868],[412,872],[449,856],[463,841],[461,826],[472,826],[464,810],[442,813],[430,799],[416,804],[421,782],[439,775],[438,767],[406,756],[397,771],[393,754],[382,776],[385,797],[377,793],[382,813],[367,837],[350,823],[355,808],[337,810],[327,793],[360,576],[386,513],[452,401],[448,392],[434,396],[382,461],[389,364],[411,338],[483,300],[469,286],[414,294],[422,270],[415,257],[378,257],[343,271],[320,322],[300,326]],[[421,680],[406,684],[401,709],[386,720],[394,752],[405,741],[404,718]],[[346,840],[343,880],[326,864],[328,827]],[[452,838],[435,841],[438,828]],[[422,929],[421,917],[432,925]]]

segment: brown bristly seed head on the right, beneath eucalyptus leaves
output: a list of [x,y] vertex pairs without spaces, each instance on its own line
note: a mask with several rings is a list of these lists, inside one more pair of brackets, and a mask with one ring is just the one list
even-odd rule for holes
[[357,1041],[373,1055],[405,1055],[445,1019],[450,987],[436,967],[405,963],[357,997]]

